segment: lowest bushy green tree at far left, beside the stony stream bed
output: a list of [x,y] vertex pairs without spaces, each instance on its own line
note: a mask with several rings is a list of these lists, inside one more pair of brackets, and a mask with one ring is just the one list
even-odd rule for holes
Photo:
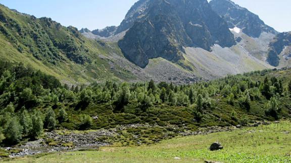
[[7,123],[4,133],[9,144],[16,144],[22,139],[22,126],[17,118],[12,118]]

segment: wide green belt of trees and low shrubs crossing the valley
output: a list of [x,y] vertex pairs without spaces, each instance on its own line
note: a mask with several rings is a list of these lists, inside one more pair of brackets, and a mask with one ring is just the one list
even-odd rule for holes
[[[149,124],[161,127],[152,133],[174,128],[169,126],[176,126],[174,133],[179,133],[199,127],[278,120],[290,115],[290,72],[255,71],[192,85],[108,81],[69,88],[21,63],[1,62],[0,140],[12,145],[37,139],[43,136],[43,129]],[[143,132],[139,133],[148,138],[150,133]],[[144,143],[176,135],[156,134]]]

